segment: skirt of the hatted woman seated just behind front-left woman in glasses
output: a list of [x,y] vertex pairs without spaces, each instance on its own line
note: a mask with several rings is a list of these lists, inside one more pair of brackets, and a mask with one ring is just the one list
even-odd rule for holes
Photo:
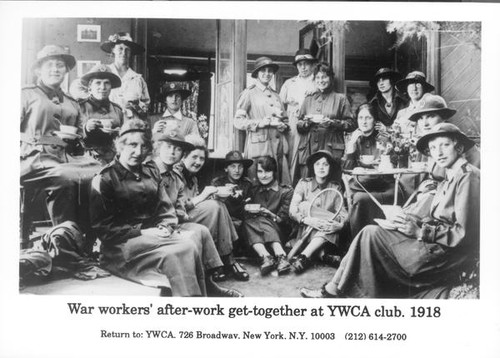
[[214,239],[206,226],[197,223],[183,223],[179,227],[183,231],[192,233],[192,235],[189,235],[189,238],[193,241],[198,252],[201,254],[201,260],[205,269],[209,270],[222,266],[222,261],[215,247]]

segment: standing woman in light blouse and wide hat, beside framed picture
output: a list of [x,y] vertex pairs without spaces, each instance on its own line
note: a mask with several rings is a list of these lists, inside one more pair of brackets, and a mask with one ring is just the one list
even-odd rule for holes
[[[129,33],[118,32],[103,42],[101,49],[113,55],[113,63],[107,66],[122,82],[120,87],[111,91],[109,99],[120,105],[125,118],[145,120],[151,102],[148,86],[142,75],[130,68],[131,56],[143,53],[144,47],[134,42]],[[73,81],[70,92],[77,99],[87,98],[89,95],[79,79]]]

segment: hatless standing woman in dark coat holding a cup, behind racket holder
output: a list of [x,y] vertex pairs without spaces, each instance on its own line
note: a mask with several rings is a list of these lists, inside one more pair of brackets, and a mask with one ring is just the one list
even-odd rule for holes
[[299,113],[299,146],[294,180],[307,176],[307,158],[318,150],[327,150],[334,158],[344,154],[344,133],[354,130],[351,105],[347,97],[333,91],[333,69],[326,63],[314,68],[318,90],[306,97]]

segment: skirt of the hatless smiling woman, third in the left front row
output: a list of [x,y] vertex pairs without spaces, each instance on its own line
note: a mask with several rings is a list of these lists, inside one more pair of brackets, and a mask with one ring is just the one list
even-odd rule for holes
[[193,222],[208,228],[220,256],[233,252],[233,242],[238,240],[238,234],[224,203],[205,200],[191,209],[188,215]]

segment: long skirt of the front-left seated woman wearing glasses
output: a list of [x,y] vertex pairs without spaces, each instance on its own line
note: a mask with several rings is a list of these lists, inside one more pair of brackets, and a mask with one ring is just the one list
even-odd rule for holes
[[141,235],[101,246],[101,265],[145,286],[171,288],[173,296],[206,296],[201,256],[187,231],[167,238]]

